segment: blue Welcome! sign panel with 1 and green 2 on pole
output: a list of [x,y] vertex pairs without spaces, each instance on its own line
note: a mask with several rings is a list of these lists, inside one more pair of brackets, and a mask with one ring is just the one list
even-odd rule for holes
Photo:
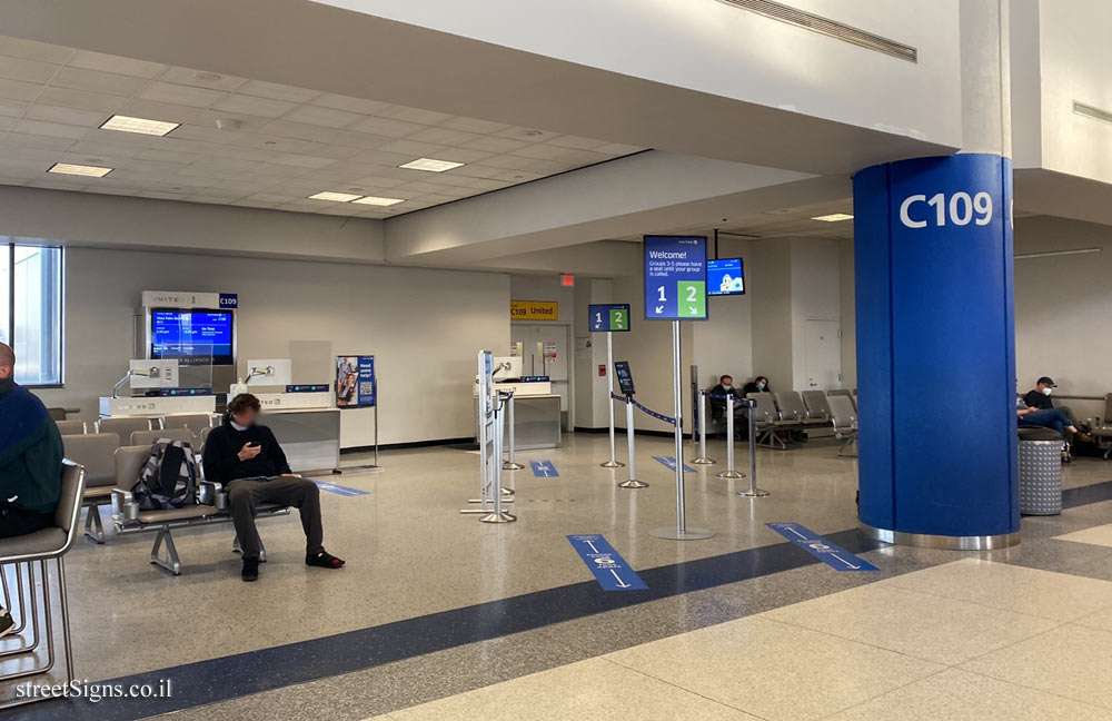
[[645,318],[706,320],[705,236],[645,236]]

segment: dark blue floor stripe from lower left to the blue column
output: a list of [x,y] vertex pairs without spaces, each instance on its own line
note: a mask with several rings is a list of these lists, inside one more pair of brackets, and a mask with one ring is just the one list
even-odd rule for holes
[[[851,553],[863,553],[886,545],[865,537],[856,529],[840,531],[826,537]],[[125,688],[143,683],[157,687],[161,679],[171,679],[175,695],[170,699],[106,699],[96,704],[73,700],[47,701],[24,708],[20,718],[33,721],[141,719],[351,673],[476,641],[532,631],[817,563],[817,560],[792,543],[748,549],[642,571],[639,574],[648,584],[647,591],[605,593],[595,581],[585,581],[105,682],[119,683]],[[198,626],[197,632],[206,633],[203,624]]]

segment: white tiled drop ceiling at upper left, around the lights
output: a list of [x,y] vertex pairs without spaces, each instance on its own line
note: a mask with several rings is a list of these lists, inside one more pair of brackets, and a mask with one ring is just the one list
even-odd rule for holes
[[[99,126],[180,122],[166,137]],[[217,120],[238,121],[234,130]],[[0,36],[0,184],[381,218],[642,148]],[[464,162],[447,172],[397,166]],[[107,166],[103,178],[48,174]],[[311,200],[332,190],[390,207]]]

